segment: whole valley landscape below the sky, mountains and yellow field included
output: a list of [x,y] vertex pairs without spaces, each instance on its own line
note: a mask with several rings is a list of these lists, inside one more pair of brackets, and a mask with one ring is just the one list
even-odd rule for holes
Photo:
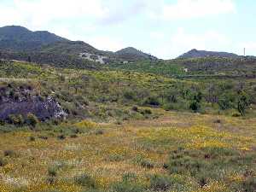
[[253,56],[161,60],[13,27],[0,28],[1,192],[255,191]]

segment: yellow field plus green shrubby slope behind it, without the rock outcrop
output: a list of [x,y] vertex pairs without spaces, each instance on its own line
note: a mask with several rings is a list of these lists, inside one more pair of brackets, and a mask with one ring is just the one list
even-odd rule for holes
[[20,61],[0,75],[4,99],[31,90],[67,113],[0,121],[1,192],[256,191],[254,79]]

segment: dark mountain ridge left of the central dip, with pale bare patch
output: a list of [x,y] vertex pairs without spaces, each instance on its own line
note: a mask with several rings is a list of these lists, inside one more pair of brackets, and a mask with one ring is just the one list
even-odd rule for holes
[[129,47],[117,52],[102,51],[82,41],[71,41],[46,31],[32,32],[23,26],[0,27],[0,49],[14,52],[40,52],[80,56],[90,61],[140,61],[156,57]]

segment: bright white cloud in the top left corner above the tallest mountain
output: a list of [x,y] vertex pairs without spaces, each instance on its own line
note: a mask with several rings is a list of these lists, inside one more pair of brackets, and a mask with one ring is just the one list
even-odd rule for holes
[[0,4],[0,24],[19,23],[31,28],[42,28],[57,20],[98,19],[106,14],[102,0],[14,0],[11,5]]

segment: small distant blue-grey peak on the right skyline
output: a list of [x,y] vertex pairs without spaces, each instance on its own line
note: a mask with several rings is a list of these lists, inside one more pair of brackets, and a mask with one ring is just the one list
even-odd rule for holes
[[189,58],[199,58],[199,57],[226,57],[226,58],[238,58],[239,55],[227,52],[218,52],[218,51],[207,51],[207,50],[197,50],[191,49],[189,52],[184,53],[183,55],[178,56],[178,59],[189,59]]

